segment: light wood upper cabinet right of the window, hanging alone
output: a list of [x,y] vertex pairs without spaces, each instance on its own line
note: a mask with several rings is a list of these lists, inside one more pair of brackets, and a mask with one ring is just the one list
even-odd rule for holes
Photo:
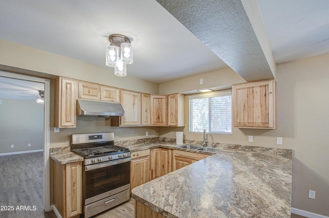
[[275,80],[232,86],[233,126],[239,128],[276,128]]

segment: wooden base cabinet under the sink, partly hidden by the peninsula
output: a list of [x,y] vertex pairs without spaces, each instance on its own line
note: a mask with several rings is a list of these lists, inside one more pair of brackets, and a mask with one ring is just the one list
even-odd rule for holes
[[173,171],[185,167],[189,164],[202,160],[210,155],[193,153],[188,151],[173,151]]

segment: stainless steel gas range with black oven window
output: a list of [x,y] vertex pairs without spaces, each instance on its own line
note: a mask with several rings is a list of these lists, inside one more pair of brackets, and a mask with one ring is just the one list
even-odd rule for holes
[[114,145],[114,133],[72,134],[71,150],[84,157],[84,217],[130,199],[130,150]]

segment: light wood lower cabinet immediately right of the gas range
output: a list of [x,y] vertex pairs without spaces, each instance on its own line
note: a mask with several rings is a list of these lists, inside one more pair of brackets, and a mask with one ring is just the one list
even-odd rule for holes
[[136,186],[151,180],[150,176],[150,149],[131,153],[130,162],[130,191]]

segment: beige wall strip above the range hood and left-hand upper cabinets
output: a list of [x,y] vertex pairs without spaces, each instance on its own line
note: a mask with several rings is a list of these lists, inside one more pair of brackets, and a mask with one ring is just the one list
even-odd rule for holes
[[0,48],[0,69],[3,70],[12,67],[14,71],[26,74],[31,74],[32,71],[38,75],[41,72],[46,78],[65,76],[150,94],[158,94],[159,91],[158,84],[129,76],[129,72],[128,76],[115,76],[114,68],[105,68],[105,61],[102,68],[4,39],[0,39]]

